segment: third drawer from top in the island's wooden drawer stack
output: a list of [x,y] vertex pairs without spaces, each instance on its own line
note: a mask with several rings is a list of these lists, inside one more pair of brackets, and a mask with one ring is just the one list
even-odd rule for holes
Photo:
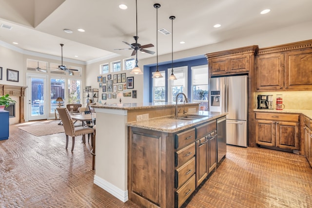
[[195,157],[190,161],[176,169],[175,172],[175,187],[176,189],[182,186],[193,174],[195,174]]

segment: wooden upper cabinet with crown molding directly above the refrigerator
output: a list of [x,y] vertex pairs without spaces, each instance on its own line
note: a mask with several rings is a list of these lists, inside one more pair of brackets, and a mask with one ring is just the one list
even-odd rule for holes
[[248,73],[253,69],[257,45],[206,54],[210,76]]

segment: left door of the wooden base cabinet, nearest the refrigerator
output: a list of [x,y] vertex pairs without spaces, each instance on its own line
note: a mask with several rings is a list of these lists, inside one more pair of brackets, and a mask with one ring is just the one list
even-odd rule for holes
[[275,122],[255,120],[255,139],[259,145],[275,147]]

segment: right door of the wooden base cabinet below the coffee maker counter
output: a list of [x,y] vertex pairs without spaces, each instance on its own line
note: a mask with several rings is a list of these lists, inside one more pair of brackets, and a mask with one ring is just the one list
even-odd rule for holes
[[299,150],[298,122],[276,122],[276,147]]

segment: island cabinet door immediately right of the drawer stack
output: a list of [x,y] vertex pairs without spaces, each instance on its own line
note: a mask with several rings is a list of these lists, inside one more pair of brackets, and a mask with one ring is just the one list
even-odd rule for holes
[[208,176],[208,147],[206,136],[196,141],[196,187]]

